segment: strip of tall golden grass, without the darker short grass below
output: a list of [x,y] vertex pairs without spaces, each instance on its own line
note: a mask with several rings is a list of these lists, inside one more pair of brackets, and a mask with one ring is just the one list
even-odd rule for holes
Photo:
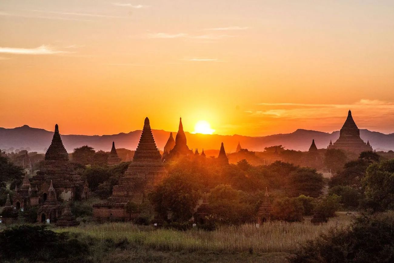
[[192,229],[176,231],[136,226],[132,223],[82,224],[78,227],[55,228],[57,232],[72,232],[87,235],[99,241],[112,239],[119,242],[127,239],[132,244],[144,245],[154,250],[199,251],[199,252],[294,252],[301,244],[314,239],[329,229],[348,226],[353,216],[338,213],[327,224],[268,222],[255,225],[223,226],[215,231]]

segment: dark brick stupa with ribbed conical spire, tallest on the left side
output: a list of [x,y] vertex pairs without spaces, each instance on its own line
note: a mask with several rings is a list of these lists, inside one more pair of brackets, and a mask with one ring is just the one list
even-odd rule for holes
[[46,200],[49,182],[53,182],[56,195],[63,200],[85,199],[87,185],[77,175],[69,161],[69,155],[61,141],[59,126],[55,125],[52,142],[45,153],[40,171],[33,177],[33,185],[39,190],[41,203]]

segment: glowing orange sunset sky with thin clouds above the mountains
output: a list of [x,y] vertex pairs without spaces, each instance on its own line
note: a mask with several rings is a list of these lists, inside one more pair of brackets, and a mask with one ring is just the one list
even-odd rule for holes
[[0,2],[0,127],[394,132],[394,2]]

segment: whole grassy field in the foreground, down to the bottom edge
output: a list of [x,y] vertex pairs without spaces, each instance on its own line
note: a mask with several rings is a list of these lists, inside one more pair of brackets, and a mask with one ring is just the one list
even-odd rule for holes
[[136,226],[132,223],[82,224],[54,228],[71,232],[95,244],[97,262],[285,262],[305,241],[339,226],[348,226],[352,215],[338,213],[327,224],[269,222],[223,226],[215,231],[176,231]]

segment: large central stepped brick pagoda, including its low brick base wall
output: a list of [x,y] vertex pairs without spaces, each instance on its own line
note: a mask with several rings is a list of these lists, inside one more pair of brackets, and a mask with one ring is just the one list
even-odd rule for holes
[[167,170],[154,142],[147,117],[132,163],[125,175],[119,179],[119,185],[113,187],[108,203],[93,205],[93,216],[104,220],[127,220],[129,215],[126,213],[125,204],[128,201],[142,203],[154,185],[166,175]]

